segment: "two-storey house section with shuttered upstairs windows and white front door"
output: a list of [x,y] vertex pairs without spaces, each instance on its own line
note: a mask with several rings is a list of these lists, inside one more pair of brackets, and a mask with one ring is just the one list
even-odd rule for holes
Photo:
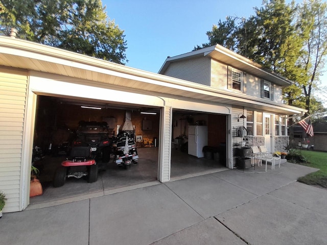
[[[282,89],[292,83],[286,78],[221,45],[168,57],[158,73],[232,95],[233,101],[227,103],[232,110],[233,144],[244,141],[244,137],[238,137],[244,127],[249,145],[266,145],[270,152],[283,151],[288,145],[286,118],[293,112],[286,111],[292,107],[282,104]],[[281,106],[288,109],[283,111],[278,108]],[[297,110],[299,114],[304,112]],[[240,119],[241,115],[246,118]]]

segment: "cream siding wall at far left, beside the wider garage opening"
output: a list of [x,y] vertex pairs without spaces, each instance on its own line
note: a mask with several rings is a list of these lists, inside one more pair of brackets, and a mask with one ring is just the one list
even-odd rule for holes
[[0,190],[8,201],[4,212],[20,211],[20,169],[27,76],[0,70]]

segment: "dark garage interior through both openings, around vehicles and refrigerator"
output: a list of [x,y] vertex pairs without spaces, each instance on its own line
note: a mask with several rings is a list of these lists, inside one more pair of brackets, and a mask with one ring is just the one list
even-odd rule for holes
[[[93,107],[93,109],[81,106]],[[66,178],[64,186],[54,188],[52,181],[55,170],[67,157],[64,151],[58,151],[58,149],[62,149],[62,146],[67,144],[71,146],[72,135],[79,121],[106,121],[111,136],[114,136],[118,130],[122,129],[127,112],[131,113],[135,136],[138,138],[141,136],[143,139],[136,143],[138,164],[132,164],[130,169],[124,169],[114,163],[112,156],[107,163],[100,159],[97,161],[99,164],[98,181],[87,183],[84,177]],[[141,112],[151,114],[141,114]],[[173,111],[171,180],[227,169],[226,123],[226,115]],[[212,156],[197,158],[188,154],[189,125],[207,126],[208,145],[215,149]],[[159,129],[160,108],[38,95],[33,165],[40,171],[38,179],[42,184],[43,193],[30,198],[30,204],[54,202],[91,193],[103,194],[106,191],[157,181]],[[35,153],[39,151],[42,154],[35,157],[38,155]]]

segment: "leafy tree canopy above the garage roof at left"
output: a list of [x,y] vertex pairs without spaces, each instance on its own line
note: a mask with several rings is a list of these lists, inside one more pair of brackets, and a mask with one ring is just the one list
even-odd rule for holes
[[107,17],[101,0],[2,0],[0,34],[11,28],[21,39],[127,62],[124,31]]

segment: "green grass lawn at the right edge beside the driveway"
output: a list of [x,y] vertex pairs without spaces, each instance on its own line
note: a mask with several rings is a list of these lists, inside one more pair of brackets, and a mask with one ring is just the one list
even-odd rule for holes
[[319,168],[320,170],[304,177],[300,177],[298,181],[308,185],[320,185],[327,188],[327,153],[301,151],[301,155],[309,161],[309,163],[301,163],[302,165]]

